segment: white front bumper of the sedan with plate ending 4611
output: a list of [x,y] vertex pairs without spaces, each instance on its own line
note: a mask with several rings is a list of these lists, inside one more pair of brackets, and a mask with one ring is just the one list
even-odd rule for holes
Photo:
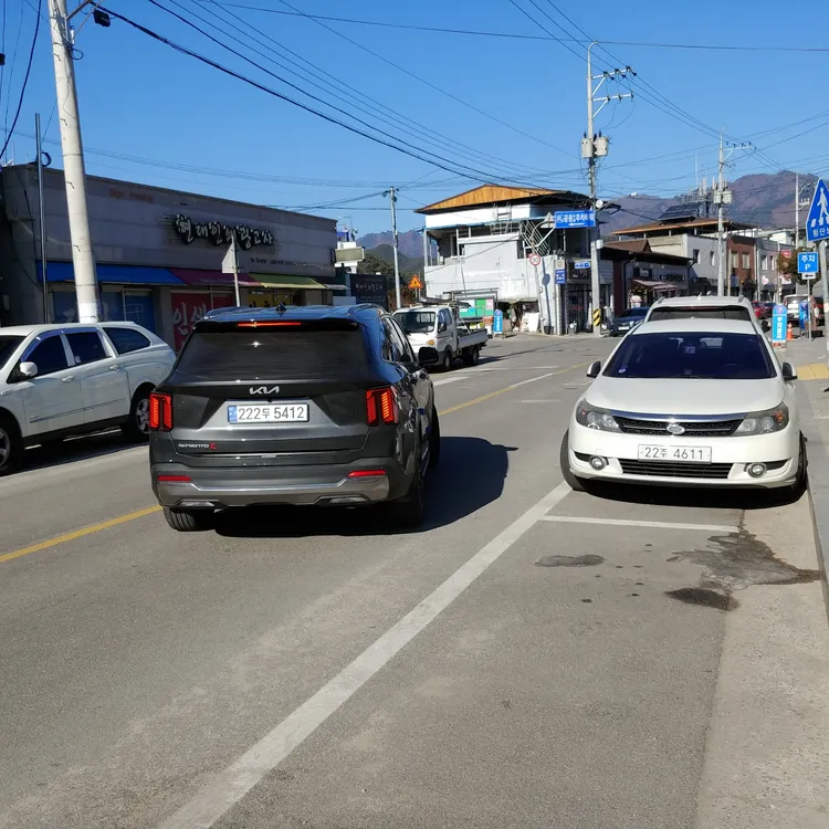
[[[711,463],[639,461],[642,444],[711,448]],[[577,478],[659,486],[752,486],[774,489],[797,482],[800,434],[791,423],[781,432],[742,438],[653,438],[588,429],[575,420],[569,428],[569,465]],[[607,461],[601,470],[590,458]],[[748,474],[748,465],[765,463],[760,478]]]

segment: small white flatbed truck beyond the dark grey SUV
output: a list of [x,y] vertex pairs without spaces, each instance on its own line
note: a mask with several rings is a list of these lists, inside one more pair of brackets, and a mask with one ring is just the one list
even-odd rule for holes
[[451,305],[416,305],[395,312],[395,319],[409,337],[414,351],[423,346],[438,350],[440,365],[444,371],[461,357],[465,365],[474,366],[486,346],[485,329],[470,330],[458,318]]

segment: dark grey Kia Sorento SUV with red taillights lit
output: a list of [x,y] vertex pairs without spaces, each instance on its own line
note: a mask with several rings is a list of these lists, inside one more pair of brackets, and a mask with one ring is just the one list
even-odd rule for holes
[[167,523],[209,529],[252,505],[385,504],[423,517],[440,421],[428,365],[376,305],[241,308],[197,323],[150,397],[150,474]]

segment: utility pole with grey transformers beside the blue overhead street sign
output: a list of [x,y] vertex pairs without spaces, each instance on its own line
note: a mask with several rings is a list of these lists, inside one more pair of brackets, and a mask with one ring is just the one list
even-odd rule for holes
[[[592,333],[594,336],[601,336],[601,284],[599,280],[599,249],[601,248],[599,228],[599,208],[597,207],[596,198],[596,159],[604,158],[608,154],[608,146],[610,140],[607,136],[602,136],[601,133],[596,135],[594,132],[594,122],[596,116],[602,111],[602,108],[611,101],[622,101],[623,98],[632,98],[633,93],[628,92],[623,95],[599,95],[602,85],[606,81],[611,78],[625,78],[628,75],[636,76],[630,66],[626,66],[623,70],[613,70],[612,72],[601,72],[598,75],[592,73],[592,48],[597,46],[598,42],[594,41],[587,48],[587,133],[581,139],[581,157],[587,159],[587,174],[589,177],[590,185],[590,208],[594,211],[596,218],[596,224],[588,230],[590,237],[590,303],[592,305]],[[598,83],[597,83],[598,82]],[[599,107],[595,109],[594,104],[598,103]],[[598,316],[597,312],[598,311]],[[598,318],[598,322],[596,322]]]

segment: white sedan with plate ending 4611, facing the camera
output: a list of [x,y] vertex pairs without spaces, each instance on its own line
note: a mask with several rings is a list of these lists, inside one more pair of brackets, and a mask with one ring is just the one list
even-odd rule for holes
[[795,370],[749,322],[671,319],[628,334],[576,403],[562,472],[670,486],[802,486]]

